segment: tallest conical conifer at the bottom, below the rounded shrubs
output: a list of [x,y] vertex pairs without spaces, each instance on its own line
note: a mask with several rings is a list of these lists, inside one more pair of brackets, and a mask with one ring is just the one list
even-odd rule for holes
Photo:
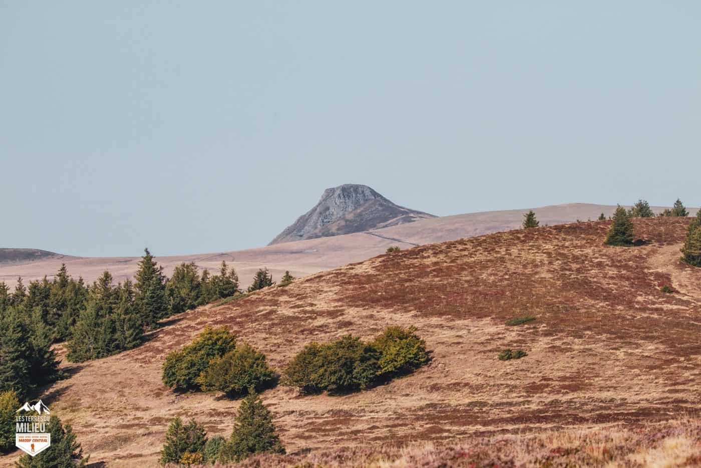
[[285,448],[275,434],[270,411],[252,391],[238,408],[231,439],[219,450],[219,462],[240,462],[261,452],[285,453]]

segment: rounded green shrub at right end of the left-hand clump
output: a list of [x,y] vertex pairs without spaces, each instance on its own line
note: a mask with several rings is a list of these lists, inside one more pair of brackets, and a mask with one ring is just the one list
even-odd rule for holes
[[273,382],[275,373],[268,367],[265,354],[246,343],[236,346],[220,358],[212,359],[198,383],[205,392],[219,391],[233,396],[249,389],[261,389]]

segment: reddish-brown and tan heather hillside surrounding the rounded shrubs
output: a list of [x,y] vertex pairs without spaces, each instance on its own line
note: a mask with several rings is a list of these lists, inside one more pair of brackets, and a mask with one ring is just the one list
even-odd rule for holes
[[[636,248],[603,246],[604,221],[380,255],[175,316],[138,349],[64,363],[72,377],[43,397],[91,461],[150,466],[172,417],[231,432],[239,401],[161,384],[165,354],[205,325],[230,327],[280,369],[306,342],[414,324],[434,359],[412,375],[345,396],[264,392],[288,452],[676,419],[701,406],[701,269],[679,262],[688,222],[634,220]],[[505,326],[524,314],[538,319]],[[506,347],[529,355],[498,361]]]

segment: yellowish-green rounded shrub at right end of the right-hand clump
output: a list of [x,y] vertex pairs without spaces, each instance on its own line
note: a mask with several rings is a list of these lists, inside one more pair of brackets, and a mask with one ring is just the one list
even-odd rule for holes
[[380,352],[379,375],[411,372],[430,361],[426,342],[416,335],[416,327],[391,326],[370,343]]

